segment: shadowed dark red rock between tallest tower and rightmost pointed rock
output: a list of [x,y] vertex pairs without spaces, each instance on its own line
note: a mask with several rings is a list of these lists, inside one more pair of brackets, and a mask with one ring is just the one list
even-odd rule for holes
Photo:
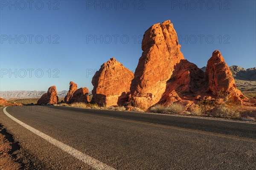
[[189,107],[195,96],[205,95],[207,78],[200,68],[186,59],[175,65],[172,77],[166,82],[166,91],[159,103],[166,106],[180,102]]

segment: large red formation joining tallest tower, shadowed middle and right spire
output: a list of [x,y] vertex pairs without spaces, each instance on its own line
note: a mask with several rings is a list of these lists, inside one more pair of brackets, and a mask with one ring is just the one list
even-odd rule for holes
[[143,54],[131,83],[131,98],[147,110],[155,104],[180,102],[191,107],[200,100],[215,100],[219,91],[241,103],[231,71],[219,51],[209,59],[206,73],[183,58],[177,34],[168,20],[154,24],[144,34]]

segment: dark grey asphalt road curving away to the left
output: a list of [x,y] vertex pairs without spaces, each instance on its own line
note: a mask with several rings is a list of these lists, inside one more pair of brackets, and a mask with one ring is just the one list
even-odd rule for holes
[[[6,111],[118,170],[256,169],[256,124],[60,106]],[[10,119],[3,108],[0,123],[41,169],[93,169]]]

